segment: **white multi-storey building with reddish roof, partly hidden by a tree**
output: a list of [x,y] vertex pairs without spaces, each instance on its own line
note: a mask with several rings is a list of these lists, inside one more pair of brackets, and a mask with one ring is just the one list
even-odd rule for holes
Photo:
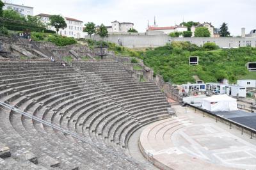
[[[40,17],[41,21],[47,25],[50,23],[50,17],[51,15],[40,13],[36,15]],[[63,16],[61,16],[63,17]],[[67,27],[65,29],[60,29],[59,35],[68,36],[68,37],[74,37],[74,38],[82,38],[84,37],[85,33],[83,32],[83,21],[69,18],[69,17],[63,17],[65,19],[65,22],[67,24]],[[53,31],[56,31],[56,29],[52,26],[48,26],[48,29],[51,29]]]

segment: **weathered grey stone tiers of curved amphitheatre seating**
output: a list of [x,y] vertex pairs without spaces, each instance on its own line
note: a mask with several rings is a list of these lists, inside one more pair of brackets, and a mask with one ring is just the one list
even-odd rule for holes
[[83,143],[3,108],[0,109],[0,143],[10,147],[12,153],[12,157],[1,160],[4,166],[143,168],[131,160],[125,149],[129,137],[147,123],[170,117],[167,111],[170,105],[153,82],[134,81],[120,63],[104,60],[73,65],[1,61],[2,102],[88,140]]

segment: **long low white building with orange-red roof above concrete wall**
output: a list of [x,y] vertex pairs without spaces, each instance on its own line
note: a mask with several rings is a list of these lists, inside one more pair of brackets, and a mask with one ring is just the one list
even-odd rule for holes
[[184,26],[168,26],[168,27],[158,27],[158,26],[149,26],[147,32],[163,32],[164,34],[168,35],[173,32],[183,32],[188,31],[188,27]]

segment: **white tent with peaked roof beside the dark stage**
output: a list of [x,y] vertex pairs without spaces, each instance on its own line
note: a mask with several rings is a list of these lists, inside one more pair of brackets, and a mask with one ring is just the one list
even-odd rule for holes
[[237,110],[237,102],[235,98],[228,97],[228,95],[213,95],[203,99],[202,109],[213,112],[235,111]]

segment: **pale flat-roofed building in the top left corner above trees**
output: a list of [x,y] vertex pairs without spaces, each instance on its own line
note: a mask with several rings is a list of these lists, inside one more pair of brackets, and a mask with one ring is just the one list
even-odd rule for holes
[[21,16],[27,17],[28,15],[33,16],[33,7],[24,6],[23,4],[12,4],[12,3],[4,3],[3,10],[13,10],[15,12],[20,13]]

